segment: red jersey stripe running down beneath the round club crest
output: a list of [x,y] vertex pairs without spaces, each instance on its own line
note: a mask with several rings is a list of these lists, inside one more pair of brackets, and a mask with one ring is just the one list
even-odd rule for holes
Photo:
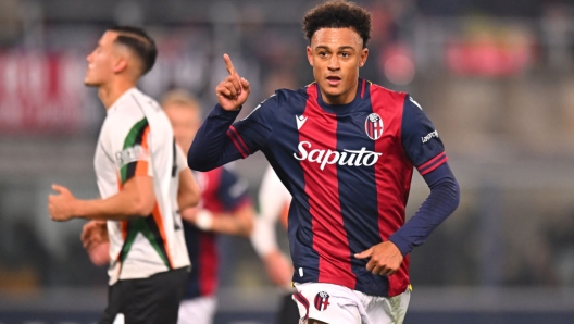
[[[378,232],[383,241],[404,225],[404,208],[411,188],[413,165],[402,149],[400,138],[405,94],[372,85],[371,103],[385,125],[383,136],[375,140],[375,151],[383,155],[375,165],[378,203]],[[409,256],[399,271],[388,277],[388,296],[397,296],[409,285]]]

